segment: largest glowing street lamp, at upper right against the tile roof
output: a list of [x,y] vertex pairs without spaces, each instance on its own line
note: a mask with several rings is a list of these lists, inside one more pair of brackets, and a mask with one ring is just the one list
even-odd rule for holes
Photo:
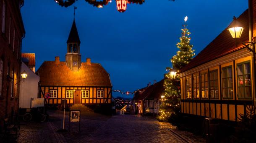
[[237,22],[235,16],[227,30],[230,32],[232,38],[240,38],[243,33],[243,27]]

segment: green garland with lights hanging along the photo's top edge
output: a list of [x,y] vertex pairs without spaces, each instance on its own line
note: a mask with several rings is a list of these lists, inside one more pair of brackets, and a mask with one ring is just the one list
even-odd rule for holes
[[[77,0],[54,0],[56,3],[58,3],[60,6],[64,6],[64,7],[68,7],[73,5],[73,3],[75,3]],[[98,8],[102,8],[103,5],[107,5],[108,3],[110,3],[110,1],[112,0],[100,0],[100,1],[96,1],[96,0],[85,0],[87,3],[89,3],[90,5],[93,5],[95,7]],[[128,3],[136,3],[136,4],[143,4],[145,2],[145,0],[127,0]]]

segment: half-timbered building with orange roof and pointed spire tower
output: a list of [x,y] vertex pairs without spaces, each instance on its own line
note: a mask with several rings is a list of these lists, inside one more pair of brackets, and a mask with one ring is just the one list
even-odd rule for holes
[[75,20],[67,40],[65,61],[55,57],[55,61],[44,61],[37,70],[40,76],[39,96],[50,93],[47,103],[61,104],[67,100],[69,105],[110,105],[112,98],[112,84],[110,75],[99,63],[91,63],[87,58],[81,62],[80,39]]

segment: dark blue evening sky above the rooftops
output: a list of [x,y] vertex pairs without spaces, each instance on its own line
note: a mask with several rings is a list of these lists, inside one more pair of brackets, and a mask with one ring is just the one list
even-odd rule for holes
[[[234,15],[248,8],[248,1],[146,0],[143,5],[128,5],[125,13],[116,10],[115,0],[101,9],[84,0],[74,5],[78,8],[82,61],[91,58],[91,62],[101,63],[110,73],[113,89],[134,91],[163,78],[165,67],[171,66],[170,58],[178,50],[185,16],[191,44],[198,54]],[[54,0],[25,0],[21,13],[26,30],[22,52],[36,53],[36,68],[55,56],[64,61],[73,5],[65,8]]]

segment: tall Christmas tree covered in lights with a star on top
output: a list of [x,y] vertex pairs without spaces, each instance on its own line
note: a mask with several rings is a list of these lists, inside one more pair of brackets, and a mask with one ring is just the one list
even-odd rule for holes
[[[176,55],[174,55],[171,59],[172,67],[168,68],[167,71],[172,70],[180,70],[185,65],[187,65],[192,59],[194,54],[194,50],[192,49],[193,45],[190,44],[191,38],[188,36],[190,32],[186,28],[186,21],[188,17],[185,17],[185,24],[182,29],[182,37],[180,37],[180,42],[177,43],[177,47],[179,48]],[[175,78],[171,78],[170,74],[165,74],[165,82],[164,82],[164,96],[162,96],[162,105],[159,110],[159,121],[171,123],[177,123],[180,115],[180,81],[178,76]],[[177,124],[175,124],[177,125]]]

